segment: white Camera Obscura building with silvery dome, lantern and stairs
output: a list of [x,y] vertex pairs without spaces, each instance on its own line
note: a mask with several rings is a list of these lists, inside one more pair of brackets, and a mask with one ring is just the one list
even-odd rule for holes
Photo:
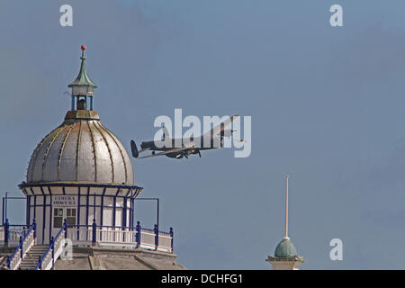
[[26,181],[19,185],[26,197],[26,229],[13,234],[8,220],[0,229],[5,247],[10,246],[10,239],[21,237],[6,266],[63,269],[70,263],[69,268],[74,269],[97,267],[89,267],[90,260],[85,266],[68,262],[75,259],[57,264],[64,247],[71,245],[73,252],[87,257],[98,251],[95,254],[104,260],[93,262],[103,269],[139,268],[132,257],[127,265],[124,260],[119,267],[108,264],[109,256],[115,254],[116,258],[117,253],[138,258],[139,253],[155,253],[152,258],[166,257],[173,262],[171,268],[183,268],[175,264],[172,229],[161,232],[157,225],[142,229],[135,223],[134,202],[143,188],[135,185],[130,156],[120,139],[103,126],[93,110],[97,85],[85,70],[85,46],[79,74],[68,87],[72,89],[71,108],[64,121],[35,148]]

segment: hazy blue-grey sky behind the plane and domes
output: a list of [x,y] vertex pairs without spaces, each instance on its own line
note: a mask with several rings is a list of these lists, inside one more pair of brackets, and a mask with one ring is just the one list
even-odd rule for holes
[[[59,7],[73,7],[73,26]],[[343,27],[329,8],[343,7]],[[130,150],[159,115],[252,117],[252,153],[132,159],[189,269],[270,269],[284,235],[302,269],[402,269],[405,2],[0,0],[0,196],[70,107],[85,44],[94,110]],[[142,226],[153,202],[137,202]],[[24,203],[9,218],[24,220]],[[329,242],[340,238],[343,260]]]

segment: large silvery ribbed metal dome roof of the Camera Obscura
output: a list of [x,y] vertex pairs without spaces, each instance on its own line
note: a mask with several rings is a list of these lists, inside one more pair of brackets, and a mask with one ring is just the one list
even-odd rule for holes
[[133,185],[134,175],[127,150],[98,113],[77,110],[35,148],[27,183]]

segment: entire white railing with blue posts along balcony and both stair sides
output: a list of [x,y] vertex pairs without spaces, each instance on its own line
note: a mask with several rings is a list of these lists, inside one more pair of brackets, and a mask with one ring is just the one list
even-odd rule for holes
[[[10,229],[10,227],[14,227],[14,229]],[[17,237],[19,238],[18,247],[7,261],[9,269],[16,269],[20,266],[27,251],[35,245],[35,220],[29,229],[24,225],[9,225],[6,220],[4,226],[0,227],[0,239],[2,237],[4,243],[14,242]],[[170,232],[166,233],[158,231],[157,225],[154,229],[143,229],[139,221],[135,228],[130,228],[97,226],[95,220],[92,225],[67,225],[65,220],[57,236],[50,239],[48,250],[40,257],[37,270],[48,270],[55,265],[55,261],[63,251],[64,238],[69,238],[76,245],[137,247],[173,253],[172,228],[170,228]]]

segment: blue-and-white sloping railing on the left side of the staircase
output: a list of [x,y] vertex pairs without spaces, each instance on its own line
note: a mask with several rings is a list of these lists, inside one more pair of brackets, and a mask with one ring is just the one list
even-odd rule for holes
[[31,228],[27,232],[23,230],[23,236],[20,236],[20,245],[15,248],[14,253],[11,257],[8,257],[7,260],[7,267],[10,270],[18,268],[27,251],[35,245],[35,240],[37,238],[36,229],[37,224],[35,223],[35,220],[33,220]]

